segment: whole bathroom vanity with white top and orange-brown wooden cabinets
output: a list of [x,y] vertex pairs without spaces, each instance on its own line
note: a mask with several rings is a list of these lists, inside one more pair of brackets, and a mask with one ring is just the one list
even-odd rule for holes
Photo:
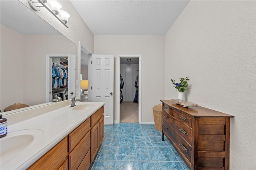
[[[77,102],[77,106],[69,107],[70,104],[68,100],[52,105],[55,109],[49,108],[50,105],[45,106],[46,113],[40,113],[42,107],[34,111],[30,109],[22,113],[26,118],[21,121],[12,121],[14,115],[6,115],[11,125],[8,126],[7,138],[1,138],[0,142],[8,143],[19,136],[24,140],[22,143],[28,145],[21,146],[22,149],[17,150],[14,157],[2,153],[1,146],[1,160],[2,156],[5,160],[1,161],[0,168],[88,169],[103,139],[104,103]],[[17,118],[20,116],[16,115]],[[32,141],[27,140],[30,138]],[[12,143],[5,146],[11,149]]]

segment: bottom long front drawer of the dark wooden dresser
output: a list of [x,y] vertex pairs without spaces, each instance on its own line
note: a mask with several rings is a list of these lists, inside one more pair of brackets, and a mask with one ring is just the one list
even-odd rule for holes
[[192,147],[188,145],[170,125],[163,121],[163,132],[170,136],[171,140],[176,145],[176,148],[191,162]]

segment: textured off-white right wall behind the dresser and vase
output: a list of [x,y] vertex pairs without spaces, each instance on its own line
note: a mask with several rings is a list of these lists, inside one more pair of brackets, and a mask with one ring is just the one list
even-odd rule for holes
[[190,1],[165,36],[165,98],[189,76],[187,100],[234,115],[230,169],[255,170],[255,1]]

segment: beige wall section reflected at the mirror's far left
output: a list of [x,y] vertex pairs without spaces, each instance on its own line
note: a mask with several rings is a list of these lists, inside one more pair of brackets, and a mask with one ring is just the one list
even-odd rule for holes
[[1,24],[1,108],[23,103],[23,35]]

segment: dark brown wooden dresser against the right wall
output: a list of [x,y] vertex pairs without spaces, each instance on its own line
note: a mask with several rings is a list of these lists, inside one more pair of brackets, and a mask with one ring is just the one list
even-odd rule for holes
[[172,143],[190,170],[228,170],[230,117],[205,107],[162,102],[162,141]]

